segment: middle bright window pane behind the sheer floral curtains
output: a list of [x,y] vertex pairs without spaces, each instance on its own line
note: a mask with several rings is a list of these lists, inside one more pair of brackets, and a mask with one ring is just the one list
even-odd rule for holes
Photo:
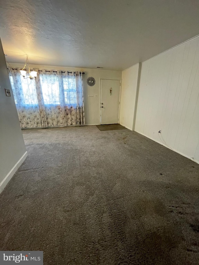
[[57,76],[40,76],[41,88],[45,105],[59,105],[59,82]]

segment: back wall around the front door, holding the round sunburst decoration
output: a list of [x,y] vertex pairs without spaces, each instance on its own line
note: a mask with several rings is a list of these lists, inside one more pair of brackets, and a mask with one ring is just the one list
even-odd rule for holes
[[[13,68],[22,67],[24,65],[20,63],[10,63]],[[63,70],[63,71],[82,71],[85,72],[83,75],[84,83],[84,110],[85,110],[85,122],[86,125],[96,125],[100,124],[99,121],[99,91],[100,91],[100,78],[101,79],[113,79],[121,80],[121,71],[110,71],[110,70],[99,70],[99,69],[88,69],[88,68],[75,68],[75,67],[63,67],[63,66],[44,66],[44,65],[32,65],[30,62],[30,67],[46,70]],[[95,85],[87,85],[88,77],[95,78]],[[95,98],[95,94],[98,98]],[[94,97],[89,97],[89,95],[94,95]]]

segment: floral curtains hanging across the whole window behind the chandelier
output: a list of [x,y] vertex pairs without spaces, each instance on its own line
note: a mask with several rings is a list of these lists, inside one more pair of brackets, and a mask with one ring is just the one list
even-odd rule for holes
[[9,68],[21,128],[84,125],[82,73],[34,71],[30,80]]

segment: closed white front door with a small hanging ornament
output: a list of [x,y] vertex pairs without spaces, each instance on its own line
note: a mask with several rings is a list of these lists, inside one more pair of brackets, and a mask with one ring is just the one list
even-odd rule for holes
[[120,80],[101,79],[101,124],[118,123]]

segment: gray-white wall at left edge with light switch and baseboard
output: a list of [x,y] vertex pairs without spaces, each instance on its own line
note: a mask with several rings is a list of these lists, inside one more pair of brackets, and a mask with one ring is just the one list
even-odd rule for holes
[[[0,193],[25,160],[27,152],[0,40]],[[11,97],[6,97],[5,88]]]

